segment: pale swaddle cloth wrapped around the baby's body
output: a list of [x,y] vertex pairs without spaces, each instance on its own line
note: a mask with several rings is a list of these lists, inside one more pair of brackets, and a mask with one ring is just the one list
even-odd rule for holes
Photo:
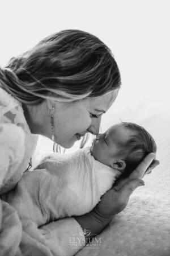
[[121,172],[94,159],[90,147],[73,154],[50,154],[18,185],[3,195],[21,219],[37,226],[90,212]]

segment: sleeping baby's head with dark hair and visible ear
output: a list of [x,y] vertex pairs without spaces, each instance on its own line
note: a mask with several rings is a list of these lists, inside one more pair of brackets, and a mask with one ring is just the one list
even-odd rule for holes
[[118,123],[97,135],[91,153],[96,160],[121,171],[125,176],[150,152],[156,152],[152,136],[135,123]]

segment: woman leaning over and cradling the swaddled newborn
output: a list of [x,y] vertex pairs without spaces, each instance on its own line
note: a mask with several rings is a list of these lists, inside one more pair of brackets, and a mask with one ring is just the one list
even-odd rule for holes
[[[0,69],[0,193],[14,188],[27,170],[36,147],[35,134],[69,148],[87,132],[99,133],[101,115],[113,104],[120,84],[108,47],[79,30],[50,35]],[[32,250],[33,255],[35,251],[36,255],[74,255],[85,242],[70,250],[69,238],[73,234],[81,238],[84,230],[90,230],[88,237],[100,233],[113,215],[126,207],[154,158],[154,154],[148,155],[128,179],[105,193],[90,213],[41,227],[44,240],[23,232],[11,242],[6,235],[8,251],[11,249],[12,255],[24,255],[25,251],[32,255]],[[2,212],[7,208],[12,212],[10,205],[4,208],[5,203],[1,204]],[[15,221],[19,223],[16,213]]]

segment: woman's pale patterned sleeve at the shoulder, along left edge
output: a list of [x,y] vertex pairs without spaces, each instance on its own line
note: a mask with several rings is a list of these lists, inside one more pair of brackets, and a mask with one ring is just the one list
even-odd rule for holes
[[36,143],[37,135],[29,130],[22,104],[0,88],[0,193],[18,183]]

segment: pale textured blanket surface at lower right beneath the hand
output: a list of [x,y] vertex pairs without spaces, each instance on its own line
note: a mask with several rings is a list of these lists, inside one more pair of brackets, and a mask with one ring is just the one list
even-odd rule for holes
[[[141,120],[141,125],[146,127],[155,138],[160,165],[150,175],[144,177],[145,186],[135,190],[125,210],[117,214],[111,224],[97,236],[101,238],[100,245],[98,242],[94,247],[86,246],[76,256],[170,255],[170,121],[168,116],[168,112],[159,112],[157,115],[150,115]],[[123,121],[125,120],[124,118]]]

